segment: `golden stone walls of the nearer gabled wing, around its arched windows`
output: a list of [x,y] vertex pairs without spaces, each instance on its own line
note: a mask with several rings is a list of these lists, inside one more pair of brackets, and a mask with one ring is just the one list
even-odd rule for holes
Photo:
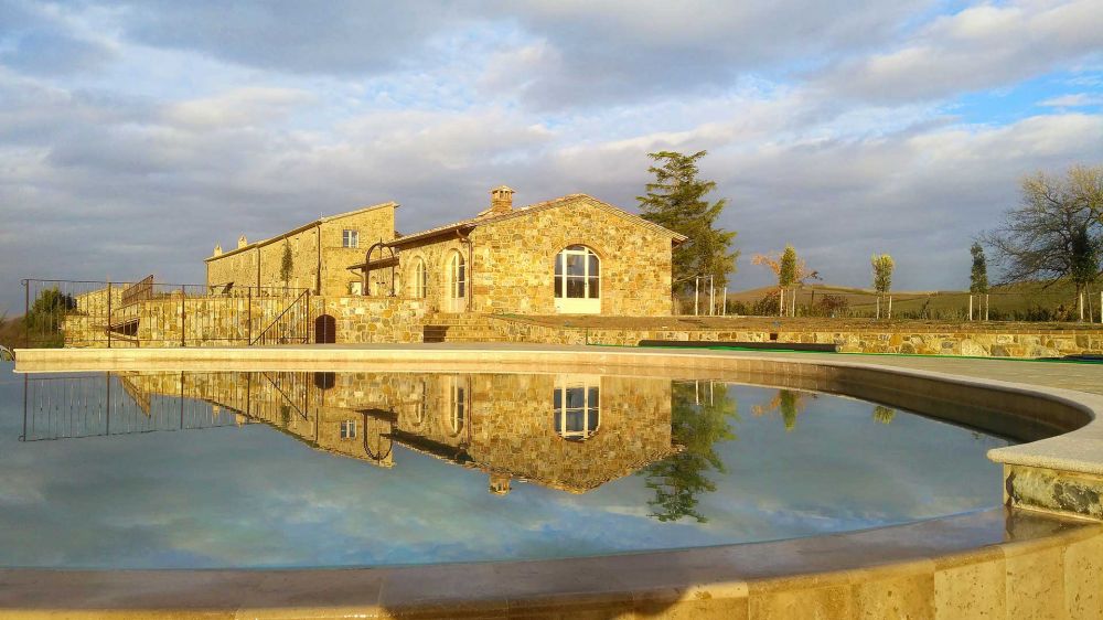
[[[497,209],[454,232],[397,239],[405,295],[416,292],[416,268],[424,264],[432,311],[555,313],[556,257],[568,246],[585,246],[600,260],[597,313],[671,313],[671,256],[682,238],[675,233],[585,194]],[[464,299],[452,301],[448,265],[456,254],[467,264],[468,290]]]

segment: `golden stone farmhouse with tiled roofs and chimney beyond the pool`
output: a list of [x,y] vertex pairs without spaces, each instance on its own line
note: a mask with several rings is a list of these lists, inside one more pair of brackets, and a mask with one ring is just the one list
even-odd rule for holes
[[671,313],[671,253],[686,237],[586,194],[521,209],[513,194],[495,188],[489,209],[408,235],[388,202],[261,242],[243,236],[205,260],[207,286],[409,300],[428,314]]

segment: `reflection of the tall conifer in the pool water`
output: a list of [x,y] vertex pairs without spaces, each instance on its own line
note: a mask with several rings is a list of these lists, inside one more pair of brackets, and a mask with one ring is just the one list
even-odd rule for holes
[[655,498],[647,502],[650,516],[658,521],[677,521],[692,516],[708,521],[697,512],[697,496],[716,490],[706,478],[709,470],[726,473],[724,461],[713,449],[717,441],[736,439],[728,418],[736,416],[736,399],[724,384],[696,382],[671,385],[671,438],[682,450],[641,473]]

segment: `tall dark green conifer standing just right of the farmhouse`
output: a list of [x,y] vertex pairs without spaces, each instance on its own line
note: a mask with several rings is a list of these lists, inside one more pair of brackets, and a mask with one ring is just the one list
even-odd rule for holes
[[655,175],[655,182],[647,183],[646,195],[636,197],[644,220],[689,237],[674,248],[675,292],[690,290],[698,276],[713,276],[717,287],[726,286],[739,256],[730,247],[736,233],[716,226],[728,201],[706,200],[705,195],[716,189],[716,182],[697,178],[697,161],[705,154],[707,151],[688,156],[673,151],[647,153],[656,162],[647,169]]

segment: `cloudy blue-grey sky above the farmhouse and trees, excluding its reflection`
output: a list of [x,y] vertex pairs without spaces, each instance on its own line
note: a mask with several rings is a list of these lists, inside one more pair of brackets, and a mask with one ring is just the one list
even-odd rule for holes
[[[732,289],[967,285],[1019,179],[1103,163],[1103,2],[0,0],[0,313],[21,278],[202,282],[385,201],[410,233],[707,150]],[[998,271],[997,271],[998,272]]]

